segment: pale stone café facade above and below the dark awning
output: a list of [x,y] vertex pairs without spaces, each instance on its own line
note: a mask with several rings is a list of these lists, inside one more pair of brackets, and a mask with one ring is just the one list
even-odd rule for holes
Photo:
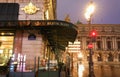
[[[31,4],[30,4],[31,3]],[[56,4],[55,0],[1,0],[0,1],[0,20],[3,21],[22,21],[28,20],[24,25],[30,24],[29,20],[53,20],[56,19]],[[29,8],[34,8],[29,9]],[[32,12],[32,11],[34,12]],[[18,23],[18,22],[17,22]],[[38,22],[39,24],[39,22]],[[5,26],[5,24],[3,24]],[[3,26],[0,25],[0,26]],[[15,26],[16,24],[11,24]],[[19,24],[18,24],[19,25]],[[21,54],[26,58],[26,65],[34,65],[35,56],[45,56],[46,51],[45,40],[40,33],[40,30],[36,29],[9,29],[4,27],[0,29],[0,55],[1,65],[7,62],[13,54]],[[36,40],[29,40],[28,36],[35,34]],[[6,59],[7,58],[7,59]],[[30,62],[31,61],[31,62]],[[32,67],[33,68],[33,67]]]

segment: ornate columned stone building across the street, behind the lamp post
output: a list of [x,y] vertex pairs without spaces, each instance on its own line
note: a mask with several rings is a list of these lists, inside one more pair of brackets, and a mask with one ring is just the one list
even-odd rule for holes
[[[77,24],[78,40],[81,42],[83,77],[89,75],[89,25]],[[120,71],[120,25],[91,24],[96,30],[97,38],[93,43],[93,63],[95,77],[119,77]]]

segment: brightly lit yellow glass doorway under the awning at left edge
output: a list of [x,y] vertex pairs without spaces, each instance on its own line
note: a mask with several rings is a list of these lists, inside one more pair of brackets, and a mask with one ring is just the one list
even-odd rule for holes
[[0,36],[0,66],[6,65],[13,54],[14,36]]

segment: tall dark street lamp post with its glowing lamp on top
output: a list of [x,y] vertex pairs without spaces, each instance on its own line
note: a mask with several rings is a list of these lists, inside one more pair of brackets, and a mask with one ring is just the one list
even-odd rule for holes
[[[88,20],[88,25],[89,25],[89,30],[90,30],[89,32],[90,33],[91,33],[91,17],[93,15],[94,9],[95,9],[95,7],[93,5],[93,1],[90,1],[89,5],[86,9],[86,13],[85,13],[85,17]],[[88,49],[89,49],[89,77],[95,77],[93,59],[92,59],[93,45],[92,45],[92,40],[91,39],[89,41]]]

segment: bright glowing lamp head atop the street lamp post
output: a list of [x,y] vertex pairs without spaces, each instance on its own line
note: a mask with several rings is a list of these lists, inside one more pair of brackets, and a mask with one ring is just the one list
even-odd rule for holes
[[85,13],[85,18],[87,20],[90,20],[94,10],[95,10],[95,6],[94,6],[93,2],[90,2],[90,4],[88,5],[88,7],[86,9],[86,13]]

